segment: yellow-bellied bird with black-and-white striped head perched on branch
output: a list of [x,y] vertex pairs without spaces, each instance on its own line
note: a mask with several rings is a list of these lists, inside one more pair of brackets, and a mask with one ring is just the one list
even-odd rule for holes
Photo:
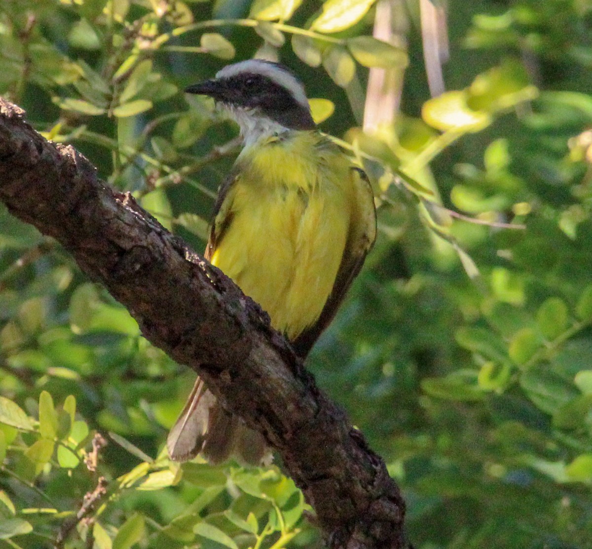
[[[377,234],[361,166],[314,123],[304,86],[279,63],[249,59],[191,85],[239,125],[242,149],[218,189],[205,259],[269,314],[305,358],[329,325]],[[201,454],[270,463],[261,434],[197,378],[170,430],[174,461]]]

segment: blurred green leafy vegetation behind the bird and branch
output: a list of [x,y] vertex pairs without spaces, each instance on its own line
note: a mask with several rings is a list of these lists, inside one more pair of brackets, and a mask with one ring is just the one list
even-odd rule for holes
[[[375,188],[377,245],[308,367],[410,540],[592,548],[592,2],[0,5],[0,94],[198,251],[238,144],[182,89],[256,54]],[[0,547],[321,547],[281,468],[169,463],[192,380],[0,209]]]

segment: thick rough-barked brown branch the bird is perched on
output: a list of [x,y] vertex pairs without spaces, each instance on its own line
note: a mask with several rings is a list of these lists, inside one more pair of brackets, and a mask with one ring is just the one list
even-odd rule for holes
[[406,547],[404,502],[384,461],[317,389],[259,306],[71,146],[47,142],[0,99],[0,199],[53,236],[130,310],[143,335],[199,373],[265,435],[331,548]]

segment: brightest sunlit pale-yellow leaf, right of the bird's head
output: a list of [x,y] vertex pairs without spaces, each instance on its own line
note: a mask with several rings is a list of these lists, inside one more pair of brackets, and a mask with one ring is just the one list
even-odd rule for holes
[[440,131],[475,133],[491,124],[489,114],[468,107],[464,91],[450,91],[428,99],[422,107],[422,118]]

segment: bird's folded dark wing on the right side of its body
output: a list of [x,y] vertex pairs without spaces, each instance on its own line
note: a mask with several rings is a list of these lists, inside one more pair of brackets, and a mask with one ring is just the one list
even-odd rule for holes
[[333,290],[329,298],[327,298],[317,322],[310,328],[305,329],[292,342],[298,356],[303,358],[310,352],[318,336],[333,320],[353,279],[362,268],[366,254],[376,240],[376,208],[374,206],[374,192],[372,192],[368,176],[360,168],[352,168],[350,175],[355,190],[355,206],[352,211],[348,240],[333,284]]

